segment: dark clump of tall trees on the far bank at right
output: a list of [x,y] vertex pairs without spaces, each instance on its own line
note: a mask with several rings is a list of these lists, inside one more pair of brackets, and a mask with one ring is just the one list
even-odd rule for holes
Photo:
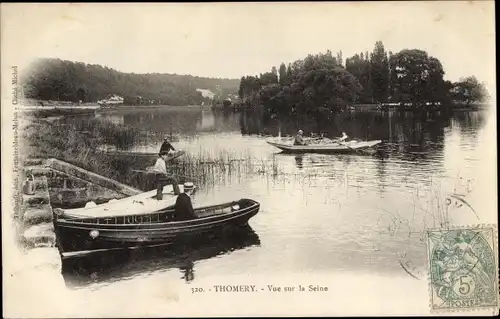
[[342,51],[308,55],[281,63],[259,76],[243,76],[238,95],[244,105],[263,106],[273,114],[341,110],[349,105],[483,102],[488,92],[475,77],[452,83],[444,80],[441,62],[423,50],[387,52],[381,41],[372,52],[343,61]]

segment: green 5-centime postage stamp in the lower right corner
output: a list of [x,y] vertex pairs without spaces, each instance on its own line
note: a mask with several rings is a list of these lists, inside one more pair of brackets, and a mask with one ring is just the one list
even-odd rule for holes
[[432,311],[498,309],[493,226],[427,231]]

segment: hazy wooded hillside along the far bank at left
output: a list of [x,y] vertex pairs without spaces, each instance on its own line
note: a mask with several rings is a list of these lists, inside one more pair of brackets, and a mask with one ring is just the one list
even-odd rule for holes
[[117,94],[128,105],[194,105],[208,103],[197,88],[227,96],[238,91],[238,79],[178,74],[119,72],[95,64],[43,58],[20,73],[25,98],[96,102]]

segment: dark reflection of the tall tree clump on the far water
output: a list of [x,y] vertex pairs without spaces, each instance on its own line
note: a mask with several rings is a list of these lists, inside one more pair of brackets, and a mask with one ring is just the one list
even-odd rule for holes
[[452,119],[476,131],[484,125],[483,112],[356,112],[338,114],[331,120],[319,122],[307,118],[285,118],[272,119],[266,124],[262,114],[247,111],[240,113],[239,122],[242,134],[261,134],[266,130],[273,136],[293,136],[300,128],[306,134],[325,133],[333,137],[346,132],[357,139],[383,140],[425,148],[442,142],[444,128],[450,126]]

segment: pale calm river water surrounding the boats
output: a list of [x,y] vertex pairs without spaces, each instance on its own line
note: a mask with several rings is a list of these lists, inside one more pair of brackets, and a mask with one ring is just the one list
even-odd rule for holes
[[[194,201],[247,197],[261,210],[238,238],[197,247],[62,266],[53,249],[38,249],[27,268],[37,269],[33,278],[39,281],[48,276],[32,295],[51,305],[47,315],[426,314],[422,230],[446,222],[496,223],[496,124],[485,111],[358,112],[319,124],[209,109],[116,111],[97,118],[139,128],[145,137],[133,151],[157,152],[162,134],[171,133],[178,138],[174,146],[188,154],[251,158],[252,173],[201,185]],[[288,155],[266,143],[298,128],[330,137],[344,131],[383,144],[368,155]],[[464,195],[474,211],[446,201],[452,193]],[[256,285],[259,293],[215,292],[214,285],[224,284]],[[267,285],[328,291],[268,292]],[[48,286],[59,301],[44,296]]]

